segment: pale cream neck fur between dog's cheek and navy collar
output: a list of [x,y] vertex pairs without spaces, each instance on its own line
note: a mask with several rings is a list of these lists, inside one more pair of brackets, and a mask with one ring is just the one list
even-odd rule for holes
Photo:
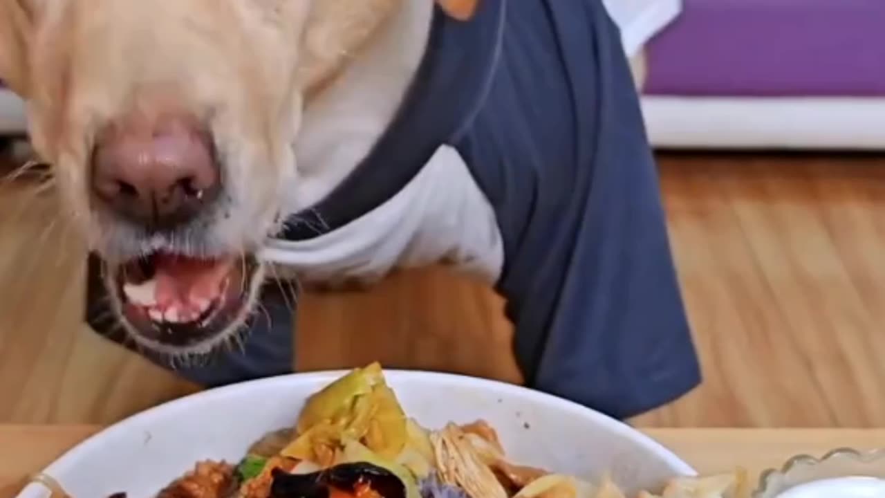
[[296,137],[298,181],[289,191],[287,211],[324,198],[393,119],[424,54],[433,11],[429,2],[400,1],[372,43],[338,68],[306,105]]

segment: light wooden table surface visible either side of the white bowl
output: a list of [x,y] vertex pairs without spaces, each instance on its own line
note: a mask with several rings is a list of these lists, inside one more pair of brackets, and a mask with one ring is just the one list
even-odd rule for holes
[[[0,424],[0,498],[14,496],[27,476],[101,429],[97,425]],[[885,447],[885,429],[648,429],[702,474],[743,466],[758,473],[793,455],[820,456],[836,447]]]

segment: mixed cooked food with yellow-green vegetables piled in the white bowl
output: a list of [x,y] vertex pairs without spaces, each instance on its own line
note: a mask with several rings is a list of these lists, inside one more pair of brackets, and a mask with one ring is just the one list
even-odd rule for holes
[[[306,401],[293,424],[268,432],[238,463],[203,461],[158,498],[617,498],[589,482],[512,462],[481,420],[428,429],[408,416],[381,366],[351,370]],[[545,423],[556,424],[555,420]],[[41,477],[42,482],[49,479]],[[638,498],[744,498],[742,472],[672,479]],[[58,489],[58,486],[56,486]],[[122,490],[121,490],[122,491]],[[67,496],[58,489],[55,498]],[[114,498],[125,496],[117,494]],[[91,498],[91,497],[78,497]]]

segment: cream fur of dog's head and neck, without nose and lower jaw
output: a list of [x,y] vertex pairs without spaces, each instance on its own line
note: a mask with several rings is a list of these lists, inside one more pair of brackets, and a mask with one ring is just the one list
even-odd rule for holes
[[[436,4],[468,19],[477,1]],[[423,55],[432,7],[0,0],[0,78],[26,99],[35,152],[53,165],[65,211],[105,261],[160,249],[255,253],[387,128]],[[205,123],[224,192],[192,226],[147,235],[92,202],[91,154],[107,130],[165,114]]]

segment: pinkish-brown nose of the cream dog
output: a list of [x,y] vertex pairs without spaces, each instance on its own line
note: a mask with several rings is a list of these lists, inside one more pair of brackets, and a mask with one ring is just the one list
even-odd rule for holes
[[209,139],[175,118],[109,128],[96,141],[92,188],[113,211],[148,230],[194,219],[220,190]]

